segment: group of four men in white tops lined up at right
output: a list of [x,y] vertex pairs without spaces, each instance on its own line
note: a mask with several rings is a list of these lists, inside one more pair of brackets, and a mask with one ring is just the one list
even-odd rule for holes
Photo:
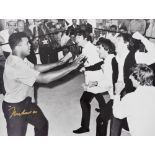
[[[113,35],[111,40],[101,37],[96,47],[85,33],[79,33],[76,40],[83,47],[82,54],[87,61],[83,69],[84,93],[80,99],[81,127],[73,133],[89,132],[90,103],[95,97],[99,103],[97,136],[107,135],[109,120],[111,136],[121,135],[122,128],[129,130],[131,135],[155,135],[152,111],[155,45],[139,32],[120,33],[117,37]],[[110,94],[108,103],[103,97],[106,92]]]

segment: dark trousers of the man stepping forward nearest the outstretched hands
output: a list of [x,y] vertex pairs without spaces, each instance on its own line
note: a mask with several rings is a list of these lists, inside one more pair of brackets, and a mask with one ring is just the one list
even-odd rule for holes
[[93,94],[91,92],[84,91],[80,99],[80,104],[82,108],[81,126],[87,129],[89,128],[90,123],[90,112],[91,112],[90,103],[94,97],[99,103],[99,108],[102,110],[105,106],[105,100],[101,93]]

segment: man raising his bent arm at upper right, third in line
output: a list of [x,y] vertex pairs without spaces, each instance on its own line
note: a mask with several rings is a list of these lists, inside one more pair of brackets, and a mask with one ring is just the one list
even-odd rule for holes
[[[145,46],[147,52],[140,51],[140,44]],[[130,69],[138,63],[147,65],[155,63],[155,45],[139,32],[136,32],[132,37],[129,34],[120,34],[118,36],[118,46],[116,49],[116,60],[118,62],[119,71],[115,76],[118,76],[116,82],[123,82],[125,84],[124,89],[121,91],[121,98],[123,98],[126,94],[135,90],[132,81],[129,78],[131,74]],[[125,119],[121,120],[113,117],[110,135],[121,135],[122,126],[128,129]]]

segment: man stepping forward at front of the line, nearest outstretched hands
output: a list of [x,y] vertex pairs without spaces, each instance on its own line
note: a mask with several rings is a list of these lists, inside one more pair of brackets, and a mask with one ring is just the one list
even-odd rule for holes
[[103,98],[102,86],[98,83],[103,81],[103,71],[101,65],[103,60],[99,58],[97,47],[91,43],[91,37],[85,31],[80,31],[76,35],[76,42],[79,46],[83,47],[82,54],[86,57],[84,63],[85,83],[83,84],[84,92],[80,99],[82,108],[81,127],[73,132],[81,134],[89,132],[91,101],[95,97],[99,103],[99,108],[103,109],[105,100]]

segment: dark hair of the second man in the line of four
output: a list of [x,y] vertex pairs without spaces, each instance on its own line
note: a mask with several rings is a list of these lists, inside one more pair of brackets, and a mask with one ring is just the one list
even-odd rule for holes
[[115,45],[111,40],[101,37],[99,41],[96,43],[96,45],[102,45],[102,47],[107,47],[109,50],[108,51],[109,54],[116,55]]

